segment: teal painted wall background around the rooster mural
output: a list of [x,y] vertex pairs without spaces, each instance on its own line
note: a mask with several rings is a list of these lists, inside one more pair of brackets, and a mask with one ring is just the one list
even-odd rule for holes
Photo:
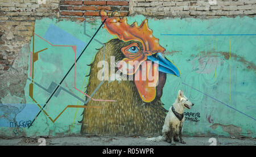
[[[140,24],[144,19],[145,17],[142,15],[127,17],[129,24],[135,21]],[[256,137],[255,20],[255,18],[249,17],[223,17],[207,20],[148,19],[148,27],[159,39],[160,45],[166,48],[165,56],[174,62],[181,71],[179,78],[167,75],[161,98],[165,104],[164,108],[171,107],[179,90],[183,90],[188,99],[195,104],[192,109],[185,110],[184,135]],[[90,37],[85,36],[84,32],[86,31],[88,35],[92,36],[100,24],[101,21],[98,20],[94,23],[86,23],[86,27],[84,27],[84,23],[44,18],[36,20],[35,33],[45,39],[47,35],[49,37],[52,35],[51,33],[54,33],[48,32],[47,34],[49,26],[56,26],[80,42],[80,47],[77,46],[78,49],[83,48],[81,45],[88,44],[90,40]],[[113,38],[116,37],[102,28],[95,36],[95,39],[102,43]],[[53,45],[68,45],[68,39],[65,36],[49,40]],[[61,40],[63,40],[63,44],[61,44]],[[90,66],[88,65],[93,61],[98,51],[96,49],[101,47],[100,43],[93,40],[76,63],[76,87],[81,91],[85,91],[89,80],[89,77],[85,77],[89,74]],[[34,52],[45,48],[47,50],[39,52],[38,61],[34,63],[34,81],[47,89],[51,87],[52,82],[59,83],[61,81],[69,67],[73,65],[75,53],[71,46],[52,46],[35,35]],[[30,53],[32,49],[33,39],[31,39],[30,50],[23,49],[23,53]],[[23,64],[27,64],[29,67],[28,79],[24,88],[26,104],[19,109],[20,112],[17,115],[20,114],[20,117],[16,121],[27,121],[30,124],[38,114],[39,107],[29,95],[30,59]],[[74,97],[78,96],[85,100],[85,95],[74,88],[74,74],[73,68],[61,84],[61,88],[69,93],[61,90],[59,95],[53,96],[46,105],[45,111],[52,120],[67,105],[84,105]],[[41,106],[50,96],[46,89],[34,85],[34,99]],[[19,104],[19,100],[14,101],[9,95],[9,97],[3,97],[1,103]],[[26,112],[22,112],[23,109],[26,109]],[[83,108],[67,108],[55,122],[52,122],[42,112],[30,128],[27,128],[24,123],[20,125],[19,127],[22,128],[20,134],[27,136],[79,134],[81,124],[77,121],[81,120],[82,111]],[[7,111],[2,105],[0,113],[6,114],[11,111]],[[19,135],[19,131],[12,127],[13,125],[8,126],[10,120],[7,118],[0,117],[0,124],[2,135]]]

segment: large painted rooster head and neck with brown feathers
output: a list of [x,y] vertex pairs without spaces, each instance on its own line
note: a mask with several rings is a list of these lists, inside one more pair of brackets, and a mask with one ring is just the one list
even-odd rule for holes
[[[112,16],[107,16],[105,11],[101,11],[100,14],[102,22],[106,19],[104,28],[118,39],[105,43],[105,58],[103,58],[104,48],[98,50],[93,63],[90,64],[90,78],[86,94],[92,95],[101,83],[98,79],[100,70],[97,67],[98,62],[105,60],[110,63],[112,56],[115,57],[117,64],[114,73],[119,70],[121,76],[126,74],[133,80],[104,81],[93,97],[115,101],[89,100],[86,105],[100,106],[102,109],[84,109],[80,121],[82,123],[81,133],[159,135],[162,132],[167,112],[160,100],[166,74],[179,77],[180,71],[164,57],[165,49],[152,35],[152,31],[147,26],[147,19],[142,22],[141,26],[138,26],[136,22],[131,25],[127,24],[127,19],[120,19],[118,12],[112,12]],[[131,64],[131,61],[136,64]],[[121,63],[127,63],[128,66],[123,66]],[[105,66],[105,68],[110,71],[110,66]],[[153,79],[150,79],[150,74],[153,73]],[[110,74],[105,73],[105,75],[111,77]],[[142,79],[142,76],[146,79]]]

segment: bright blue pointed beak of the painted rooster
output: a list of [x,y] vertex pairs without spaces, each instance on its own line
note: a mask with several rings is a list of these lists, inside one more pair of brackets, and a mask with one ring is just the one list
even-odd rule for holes
[[147,60],[158,63],[158,70],[180,77],[180,70],[168,58],[164,57],[162,53],[156,53],[152,56],[147,56]]

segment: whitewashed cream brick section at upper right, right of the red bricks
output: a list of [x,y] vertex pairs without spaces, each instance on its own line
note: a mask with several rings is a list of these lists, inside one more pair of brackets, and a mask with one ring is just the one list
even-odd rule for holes
[[254,16],[256,0],[133,0],[130,1],[130,15],[134,14],[193,18]]

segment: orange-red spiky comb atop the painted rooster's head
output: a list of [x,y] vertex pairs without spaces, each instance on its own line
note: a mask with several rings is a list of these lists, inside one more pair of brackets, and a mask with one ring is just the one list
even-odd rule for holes
[[147,19],[144,19],[141,26],[137,22],[129,25],[126,17],[119,18],[119,12],[112,12],[112,16],[101,10],[100,12],[102,22],[106,19],[104,27],[107,31],[116,35],[119,40],[123,41],[139,41],[142,43],[144,51],[151,51],[152,53],[164,52],[164,49],[159,45],[159,39],[152,35],[152,30],[148,28]]

